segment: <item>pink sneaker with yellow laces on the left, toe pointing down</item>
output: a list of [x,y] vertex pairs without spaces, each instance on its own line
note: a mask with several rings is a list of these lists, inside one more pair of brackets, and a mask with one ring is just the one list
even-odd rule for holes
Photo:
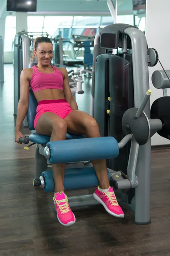
[[74,224],[76,218],[69,207],[67,196],[63,192],[55,193],[53,200],[57,211],[58,221],[64,226]]

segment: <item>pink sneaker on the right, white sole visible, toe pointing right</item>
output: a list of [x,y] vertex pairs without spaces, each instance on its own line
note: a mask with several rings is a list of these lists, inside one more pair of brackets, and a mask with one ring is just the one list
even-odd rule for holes
[[108,192],[100,191],[99,186],[93,194],[94,199],[96,199],[100,204],[105,207],[105,210],[113,216],[124,218],[124,212],[119,206],[114,191],[111,187],[108,188]]

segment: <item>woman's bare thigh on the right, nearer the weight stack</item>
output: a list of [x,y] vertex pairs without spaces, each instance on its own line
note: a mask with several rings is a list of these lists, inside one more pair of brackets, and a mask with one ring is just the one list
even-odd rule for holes
[[98,129],[96,120],[84,111],[74,110],[64,120],[67,122],[67,131],[72,134],[85,134],[88,129]]

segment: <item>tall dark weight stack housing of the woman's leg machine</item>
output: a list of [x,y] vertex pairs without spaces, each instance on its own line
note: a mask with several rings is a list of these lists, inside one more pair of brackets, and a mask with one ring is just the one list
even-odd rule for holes
[[[96,57],[94,118],[102,136],[114,137],[120,142],[122,116],[134,107],[132,55],[102,54]],[[110,110],[110,113],[107,113]],[[127,174],[130,142],[120,149],[119,156],[107,160],[107,167]]]

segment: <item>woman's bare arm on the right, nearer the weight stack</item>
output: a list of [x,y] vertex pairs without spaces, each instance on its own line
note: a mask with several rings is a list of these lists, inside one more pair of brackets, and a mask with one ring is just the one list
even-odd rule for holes
[[64,67],[60,68],[60,70],[63,74],[63,92],[64,92],[65,99],[70,104],[72,110],[78,110],[77,103],[71,93],[71,89],[69,86],[68,72]]

